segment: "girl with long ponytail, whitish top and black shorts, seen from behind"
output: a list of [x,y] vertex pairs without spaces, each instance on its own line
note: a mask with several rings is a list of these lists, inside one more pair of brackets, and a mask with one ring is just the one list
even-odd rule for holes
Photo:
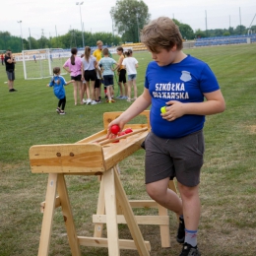
[[88,96],[86,103],[96,104],[96,57],[91,55],[91,48],[89,46],[85,47],[85,55],[82,58],[82,68],[84,70],[82,79],[86,81],[84,94],[86,91]]

